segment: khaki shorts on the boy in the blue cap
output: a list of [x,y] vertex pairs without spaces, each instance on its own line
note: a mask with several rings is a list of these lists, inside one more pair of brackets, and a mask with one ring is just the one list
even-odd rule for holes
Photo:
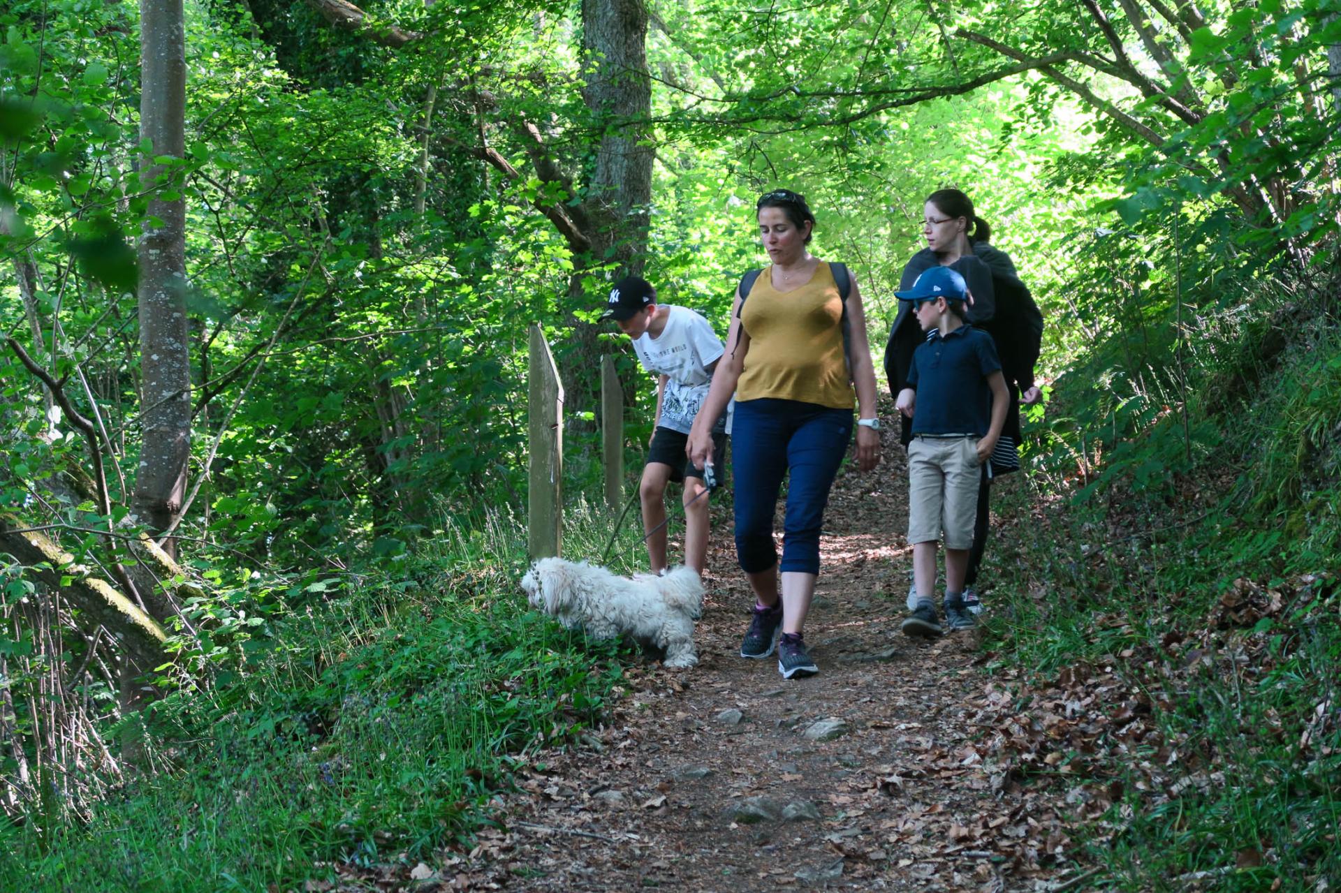
[[978,516],[978,437],[913,437],[908,444],[908,542],[945,548],[974,544]]

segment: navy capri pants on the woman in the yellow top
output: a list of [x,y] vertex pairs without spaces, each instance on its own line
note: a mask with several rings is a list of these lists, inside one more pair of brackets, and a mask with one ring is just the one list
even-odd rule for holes
[[778,563],[772,518],[790,472],[780,570],[819,573],[819,527],[852,425],[852,409],[771,397],[736,401],[731,473],[740,570],[758,574]]

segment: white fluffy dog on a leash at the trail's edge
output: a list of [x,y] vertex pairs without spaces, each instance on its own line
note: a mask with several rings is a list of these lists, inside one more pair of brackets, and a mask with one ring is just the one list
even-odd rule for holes
[[629,579],[603,567],[542,558],[522,578],[532,607],[593,638],[629,636],[665,650],[665,666],[693,666],[693,621],[703,615],[703,581],[692,567]]

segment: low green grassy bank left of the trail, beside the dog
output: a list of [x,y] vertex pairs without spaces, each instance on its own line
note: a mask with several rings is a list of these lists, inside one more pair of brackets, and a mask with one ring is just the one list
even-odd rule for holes
[[[579,516],[574,547],[585,532],[601,535]],[[468,835],[510,770],[579,735],[621,678],[613,648],[526,609],[523,555],[508,516],[448,526],[381,582],[279,621],[229,681],[156,707],[164,771],[82,819],[0,827],[0,889],[294,889]]]

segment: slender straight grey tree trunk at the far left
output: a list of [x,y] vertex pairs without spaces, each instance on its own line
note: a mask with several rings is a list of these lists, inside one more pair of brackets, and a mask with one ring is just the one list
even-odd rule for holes
[[[139,137],[153,157],[185,154],[186,47],[181,0],[141,0]],[[139,240],[139,362],[143,442],[131,510],[154,531],[181,510],[190,453],[190,346],[186,331],[186,204],[178,176],[146,160],[157,186]],[[176,196],[174,196],[176,193]],[[172,544],[168,546],[173,551]]]

